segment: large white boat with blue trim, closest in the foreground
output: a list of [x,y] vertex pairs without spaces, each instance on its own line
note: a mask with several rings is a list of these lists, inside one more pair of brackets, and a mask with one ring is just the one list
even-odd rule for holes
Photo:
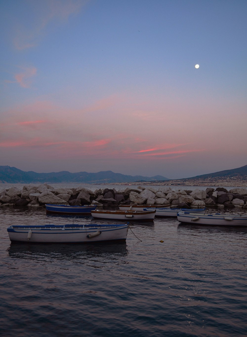
[[126,224],[65,224],[12,225],[7,228],[11,242],[30,243],[90,243],[125,241]]

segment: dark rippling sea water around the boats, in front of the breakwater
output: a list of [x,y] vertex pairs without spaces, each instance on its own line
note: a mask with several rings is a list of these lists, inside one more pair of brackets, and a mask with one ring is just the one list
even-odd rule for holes
[[157,218],[126,244],[27,245],[7,227],[95,220],[9,207],[0,220],[2,336],[246,336],[247,228]]

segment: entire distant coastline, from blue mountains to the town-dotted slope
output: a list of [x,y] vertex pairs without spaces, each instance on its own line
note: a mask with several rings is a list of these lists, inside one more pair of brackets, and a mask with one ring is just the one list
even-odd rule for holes
[[97,173],[67,171],[52,173],[36,173],[22,171],[16,167],[0,166],[0,183],[84,183],[115,185],[166,185],[166,186],[247,186],[247,165],[215,173],[184,179],[168,179],[163,176],[144,177],[129,176],[112,171]]

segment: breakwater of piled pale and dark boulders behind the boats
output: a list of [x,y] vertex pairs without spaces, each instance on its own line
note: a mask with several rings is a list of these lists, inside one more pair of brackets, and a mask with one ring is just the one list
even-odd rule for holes
[[45,204],[63,204],[71,206],[97,205],[103,208],[117,207],[119,204],[154,204],[179,208],[202,208],[217,206],[247,208],[247,189],[232,188],[227,191],[223,187],[216,189],[194,191],[170,187],[127,187],[125,189],[97,189],[95,191],[84,187],[53,188],[48,184],[38,186],[25,185],[22,189],[11,187],[0,191],[0,206],[40,207]]

